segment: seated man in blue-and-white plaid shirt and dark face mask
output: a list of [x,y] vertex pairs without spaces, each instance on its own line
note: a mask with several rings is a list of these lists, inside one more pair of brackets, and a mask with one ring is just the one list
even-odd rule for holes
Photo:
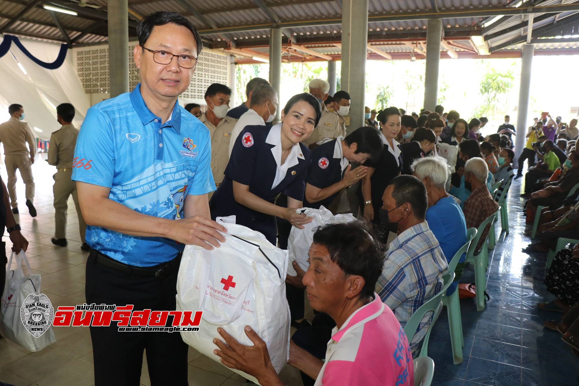
[[[384,191],[382,203],[381,217],[398,224],[398,237],[386,253],[376,293],[404,327],[416,309],[442,290],[448,263],[425,220],[428,198],[422,181],[413,176],[395,177]],[[411,341],[413,354],[437,316],[424,315]]]

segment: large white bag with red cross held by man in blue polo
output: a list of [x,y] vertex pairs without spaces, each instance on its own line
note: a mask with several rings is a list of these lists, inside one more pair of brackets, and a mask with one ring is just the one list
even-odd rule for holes
[[[285,298],[287,251],[261,233],[234,224],[235,216],[218,217],[228,233],[214,250],[185,247],[177,278],[177,309],[203,311],[197,332],[181,332],[185,343],[219,362],[214,338],[222,327],[239,343],[253,345],[249,325],[265,341],[279,373],[290,355],[290,308]],[[221,363],[221,362],[220,362]],[[245,378],[257,380],[239,370]]]

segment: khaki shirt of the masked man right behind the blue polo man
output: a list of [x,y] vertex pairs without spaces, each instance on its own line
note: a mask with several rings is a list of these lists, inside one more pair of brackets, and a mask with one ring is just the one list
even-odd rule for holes
[[207,119],[205,114],[199,117],[203,125],[207,126],[211,133],[211,172],[215,185],[219,186],[225,174],[225,167],[229,162],[229,141],[231,132],[237,123],[237,119],[226,116],[217,123],[217,128]]

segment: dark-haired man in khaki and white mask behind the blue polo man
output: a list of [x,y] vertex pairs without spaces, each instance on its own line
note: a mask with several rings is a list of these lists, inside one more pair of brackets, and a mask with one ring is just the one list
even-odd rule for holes
[[229,141],[237,119],[227,116],[231,89],[219,83],[213,83],[205,92],[207,111],[199,120],[211,133],[211,172],[215,185],[219,186],[225,177],[225,167],[229,162]]

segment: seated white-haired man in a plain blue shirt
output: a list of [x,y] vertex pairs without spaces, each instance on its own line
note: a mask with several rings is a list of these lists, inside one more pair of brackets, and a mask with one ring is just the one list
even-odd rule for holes
[[[450,263],[455,253],[467,242],[467,224],[463,211],[451,195],[445,190],[446,161],[439,156],[419,158],[412,163],[412,172],[424,186],[428,197],[426,221]],[[464,268],[463,256],[455,270],[455,283],[448,293],[452,294],[458,284]]]

